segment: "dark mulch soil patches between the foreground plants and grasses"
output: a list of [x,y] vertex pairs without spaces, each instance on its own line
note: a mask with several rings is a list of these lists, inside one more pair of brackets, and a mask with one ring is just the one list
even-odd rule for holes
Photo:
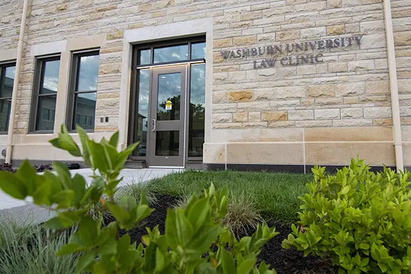
[[[145,227],[153,229],[155,225],[159,225],[160,232],[164,234],[167,208],[173,208],[177,203],[175,197],[168,195],[158,196],[158,202],[151,208],[155,208],[153,212],[140,227],[129,231],[129,235],[132,238],[132,242],[140,243],[141,236],[147,234]],[[110,220],[106,220],[110,221]],[[271,224],[272,225],[272,224]],[[319,256],[307,256],[304,257],[303,252],[297,251],[297,249],[283,249],[282,240],[287,238],[291,232],[290,226],[275,225],[275,231],[279,232],[279,235],[275,236],[262,248],[259,260],[264,260],[267,264],[271,264],[277,273],[299,273],[299,274],[328,274],[338,273],[337,268],[332,266],[332,262],[327,258],[321,258]],[[250,231],[247,234],[251,235]],[[125,234],[124,231],[120,235]]]

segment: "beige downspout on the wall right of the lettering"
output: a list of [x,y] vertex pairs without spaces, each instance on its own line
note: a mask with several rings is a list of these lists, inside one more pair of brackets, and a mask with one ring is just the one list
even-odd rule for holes
[[401,120],[399,115],[397,65],[395,64],[393,19],[391,18],[390,0],[384,0],[384,17],[388,52],[388,71],[390,75],[391,108],[393,109],[393,138],[395,147],[395,164],[397,166],[397,171],[403,171],[404,163],[401,138]]

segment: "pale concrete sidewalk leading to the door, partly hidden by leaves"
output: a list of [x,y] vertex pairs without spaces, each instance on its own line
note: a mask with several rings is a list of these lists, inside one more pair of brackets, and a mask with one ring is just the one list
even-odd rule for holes
[[[182,172],[183,169],[123,169],[121,176],[124,177],[119,186],[127,184],[141,184],[151,179],[160,178],[170,173]],[[91,169],[75,169],[70,171],[72,175],[76,173],[82,175],[87,184],[92,178]],[[27,201],[21,201],[10,197],[0,190],[0,221],[1,219],[26,220],[32,219],[34,223],[42,223],[49,219],[53,212],[45,208],[40,208]]]

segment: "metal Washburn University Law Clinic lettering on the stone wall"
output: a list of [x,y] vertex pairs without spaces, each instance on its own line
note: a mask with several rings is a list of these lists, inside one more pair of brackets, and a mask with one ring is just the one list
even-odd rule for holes
[[[299,64],[314,64],[324,62],[323,53],[301,54],[304,51],[315,51],[320,49],[334,49],[338,47],[350,47],[361,45],[362,36],[341,37],[326,40],[315,40],[309,42],[295,42],[290,44],[279,44],[273,46],[253,47],[245,49],[234,49],[221,51],[221,56],[225,60],[247,58],[248,56],[267,55],[271,57],[275,54],[284,54],[282,58],[269,58],[253,60],[253,69],[265,69],[275,66],[277,62],[282,66],[297,66]],[[295,55],[288,55],[293,54]]]

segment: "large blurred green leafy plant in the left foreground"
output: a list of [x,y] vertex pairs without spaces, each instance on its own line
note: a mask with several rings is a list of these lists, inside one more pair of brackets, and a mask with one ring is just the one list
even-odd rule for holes
[[[119,132],[100,142],[88,139],[81,127],[77,132],[82,150],[64,126],[50,142],[83,158],[93,171],[90,186],[79,174],[71,177],[69,169],[58,162],[53,164],[55,173],[39,175],[27,161],[16,173],[0,173],[3,191],[17,199],[32,197],[35,204],[58,213],[46,227],[78,226],[69,243],[58,251],[60,256],[79,254],[76,273],[275,273],[264,262],[256,267],[261,247],[277,234],[274,228],[258,225],[253,236],[236,240],[221,225],[227,214],[227,188],[217,191],[211,185],[203,197],[193,195],[184,209],[169,209],[165,234],[160,234],[158,226],[147,228],[138,246],[127,233],[119,237],[119,229],[133,229],[153,212],[144,191],[138,202],[136,197],[116,197],[123,179],[120,171],[137,144],[119,152]],[[99,212],[108,212],[115,221],[103,225]]]

